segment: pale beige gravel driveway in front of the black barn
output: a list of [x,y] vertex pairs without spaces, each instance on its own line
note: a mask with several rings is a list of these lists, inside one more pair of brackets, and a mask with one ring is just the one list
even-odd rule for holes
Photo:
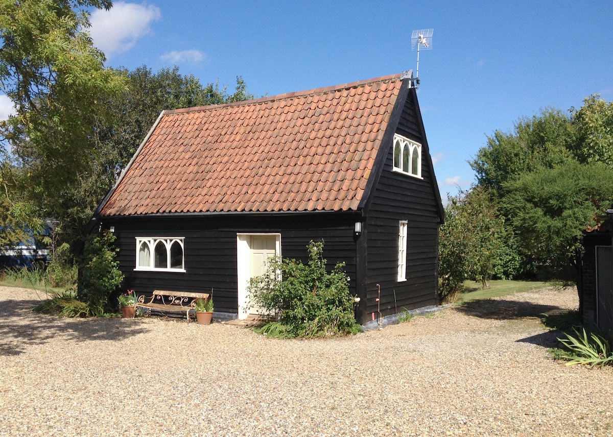
[[539,324],[573,289],[333,340],[29,312],[43,297],[0,287],[0,436],[613,434],[613,369],[555,362]]

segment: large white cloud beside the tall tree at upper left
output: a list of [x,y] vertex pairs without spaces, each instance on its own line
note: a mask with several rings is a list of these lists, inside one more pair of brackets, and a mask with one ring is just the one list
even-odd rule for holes
[[89,33],[94,45],[110,56],[134,47],[137,40],[151,33],[151,23],[161,17],[157,6],[116,2],[110,10],[94,10]]

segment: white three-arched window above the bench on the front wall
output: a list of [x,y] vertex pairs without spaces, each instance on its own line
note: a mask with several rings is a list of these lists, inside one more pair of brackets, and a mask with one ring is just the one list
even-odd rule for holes
[[134,270],[185,272],[183,240],[183,237],[137,237]]

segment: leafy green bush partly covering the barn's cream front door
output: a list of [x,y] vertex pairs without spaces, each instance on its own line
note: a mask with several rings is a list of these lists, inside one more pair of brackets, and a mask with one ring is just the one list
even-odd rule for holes
[[357,333],[355,300],[349,295],[345,264],[339,263],[327,273],[323,241],[311,241],[307,249],[308,265],[295,259],[276,259],[269,262],[264,275],[251,279],[251,307],[259,306],[275,315],[275,322],[259,332],[283,338]]

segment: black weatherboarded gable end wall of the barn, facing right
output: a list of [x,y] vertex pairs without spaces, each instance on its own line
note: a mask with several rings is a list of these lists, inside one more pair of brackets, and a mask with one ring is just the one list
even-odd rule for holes
[[[429,154],[414,93],[409,93],[396,132],[422,145]],[[393,172],[392,142],[367,211],[366,318],[378,311],[375,301],[381,286],[380,311],[387,314],[436,305],[438,286],[438,206],[432,189],[432,169],[422,158],[422,179]],[[408,221],[406,281],[397,281],[398,223]]]

